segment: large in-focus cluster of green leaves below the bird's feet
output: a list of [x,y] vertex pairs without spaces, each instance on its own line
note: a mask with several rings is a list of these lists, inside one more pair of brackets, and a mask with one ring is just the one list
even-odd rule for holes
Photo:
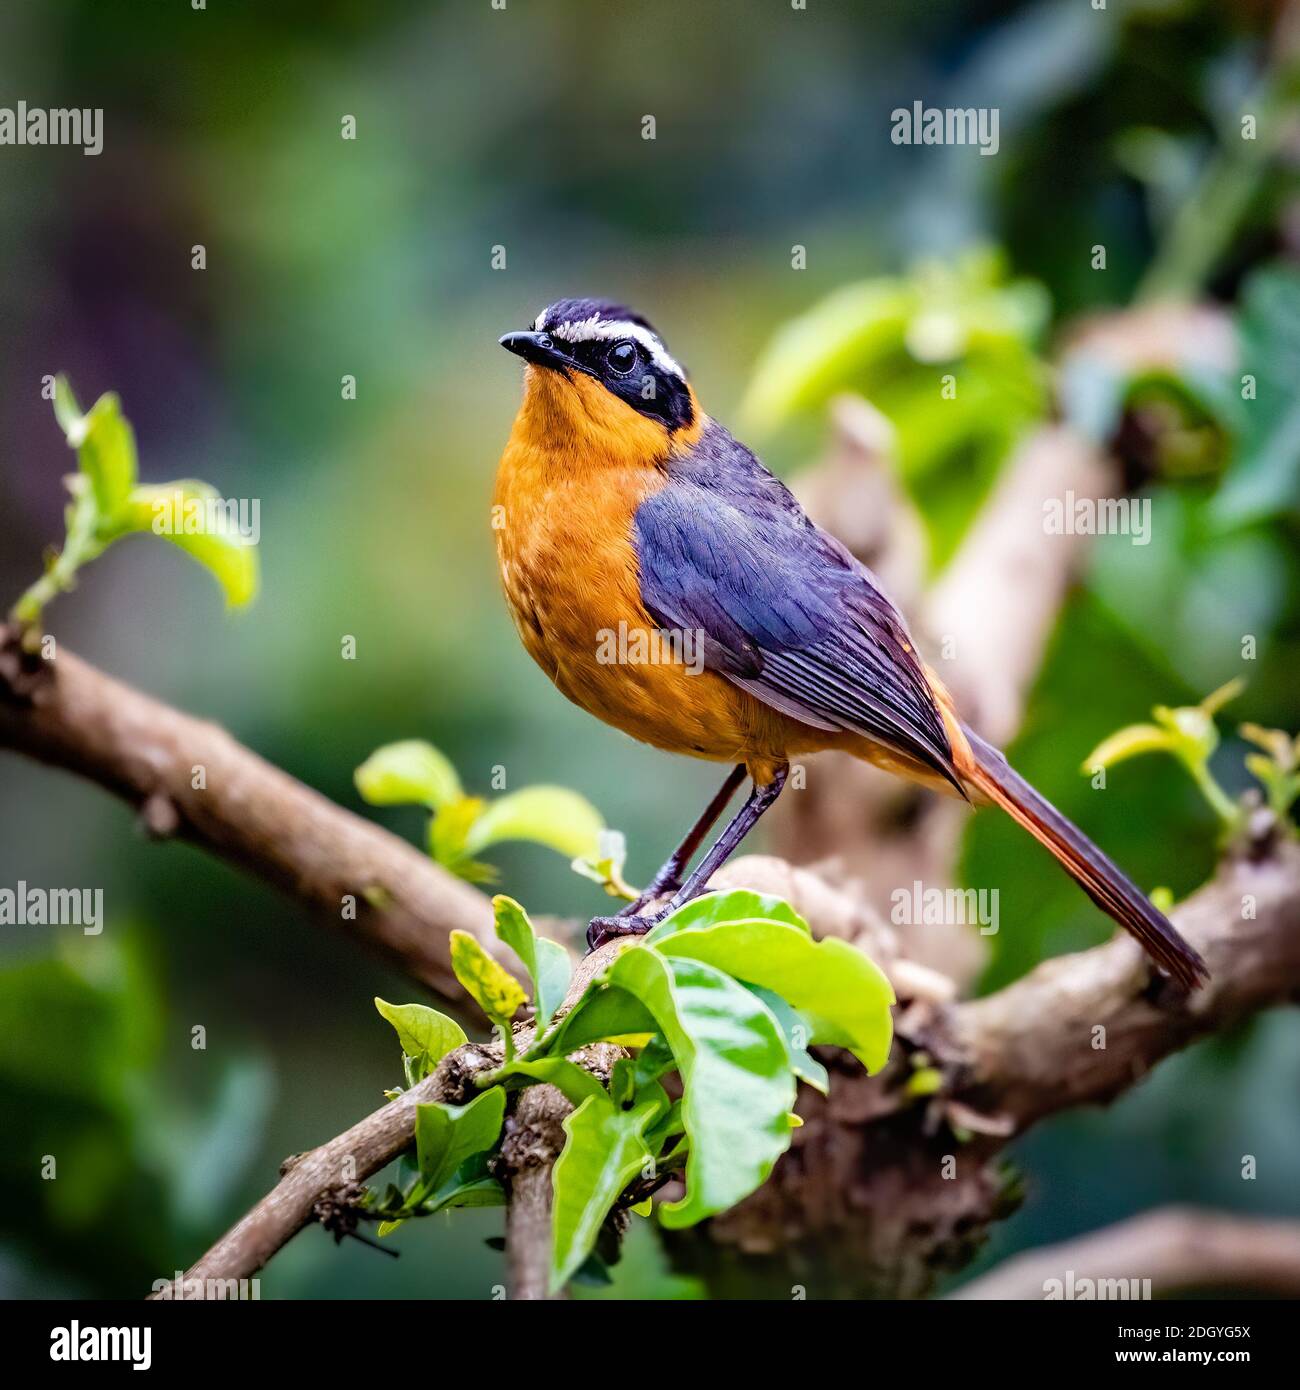
[[[523,987],[457,933],[453,967],[501,1033],[505,1061],[478,1077],[482,1094],[469,1105],[417,1108],[403,1183],[368,1198],[381,1230],[449,1207],[502,1202],[492,1156],[506,1102],[523,1087],[551,1084],[574,1106],[552,1173],[551,1277],[559,1289],[599,1259],[610,1212],[666,1176],[684,1179],[684,1194],[659,1208],[669,1227],[726,1211],[759,1187],[798,1123],[797,1081],[827,1087],[811,1045],[847,1048],[869,1072],[888,1056],[894,997],[884,974],[844,941],[815,941],[779,898],[734,890],[687,903],[630,938],[563,1016],[567,956],[537,935],[517,902],[498,897],[494,906],[498,935],[533,981],[533,1040],[516,1049],[512,1019]],[[463,1041],[432,1009],[377,1002],[402,1041],[407,1084]],[[628,1052],[608,1083],[574,1059],[594,1042]],[[670,1074],[680,1099],[665,1087]],[[649,1202],[633,1209],[648,1215]]]

